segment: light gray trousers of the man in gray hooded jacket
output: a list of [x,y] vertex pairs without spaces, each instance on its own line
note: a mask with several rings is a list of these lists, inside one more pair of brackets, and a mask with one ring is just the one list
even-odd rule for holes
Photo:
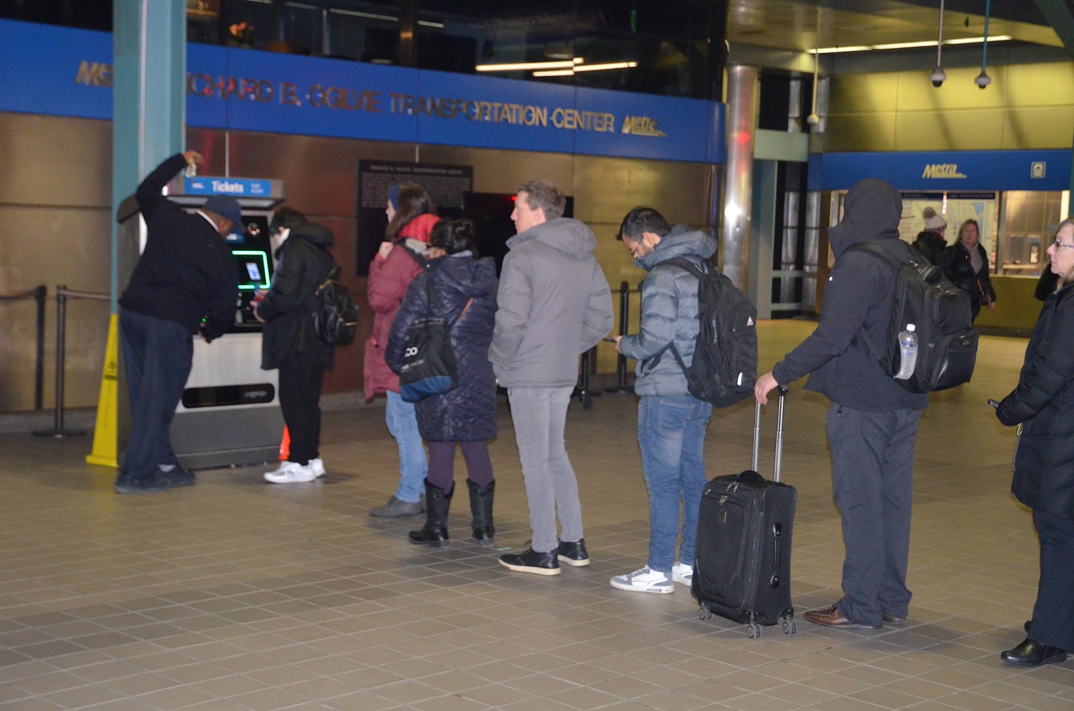
[[507,391],[529,504],[531,547],[539,553],[560,547],[555,533],[557,512],[563,540],[582,538],[578,481],[564,440],[567,405],[574,390],[574,387],[566,387],[509,388]]

